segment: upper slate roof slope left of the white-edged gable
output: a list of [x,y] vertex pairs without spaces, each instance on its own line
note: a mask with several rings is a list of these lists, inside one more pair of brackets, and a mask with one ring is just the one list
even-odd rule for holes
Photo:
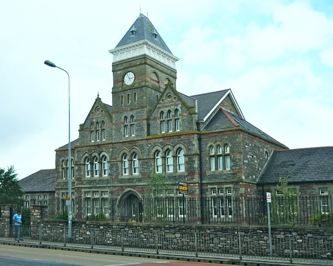
[[190,96],[198,100],[198,120],[205,118],[229,90]]

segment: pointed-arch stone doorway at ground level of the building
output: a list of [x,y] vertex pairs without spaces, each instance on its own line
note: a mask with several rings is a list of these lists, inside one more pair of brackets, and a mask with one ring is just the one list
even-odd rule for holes
[[128,192],[120,199],[120,220],[142,222],[143,205],[142,199],[135,193]]

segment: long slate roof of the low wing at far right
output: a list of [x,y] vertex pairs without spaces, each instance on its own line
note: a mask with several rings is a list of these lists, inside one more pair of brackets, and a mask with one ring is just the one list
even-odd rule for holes
[[332,182],[333,147],[274,151],[259,178],[259,184],[278,184],[280,177],[289,183]]

